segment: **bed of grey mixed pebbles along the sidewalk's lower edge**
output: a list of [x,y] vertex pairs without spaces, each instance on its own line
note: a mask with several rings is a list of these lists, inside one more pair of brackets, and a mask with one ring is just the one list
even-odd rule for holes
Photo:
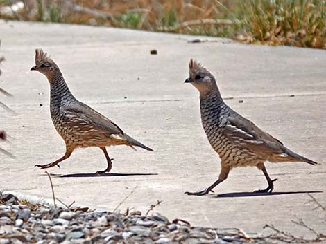
[[225,244],[271,243],[239,229],[193,227],[162,214],[62,209],[19,201],[0,192],[0,244],[21,243],[139,243]]

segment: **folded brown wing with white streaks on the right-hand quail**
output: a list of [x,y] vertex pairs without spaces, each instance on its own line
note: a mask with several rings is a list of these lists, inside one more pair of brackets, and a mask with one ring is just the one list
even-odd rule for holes
[[280,140],[262,131],[254,123],[241,115],[232,115],[226,119],[225,131],[228,140],[237,147],[252,151],[257,155],[280,154],[284,146]]

